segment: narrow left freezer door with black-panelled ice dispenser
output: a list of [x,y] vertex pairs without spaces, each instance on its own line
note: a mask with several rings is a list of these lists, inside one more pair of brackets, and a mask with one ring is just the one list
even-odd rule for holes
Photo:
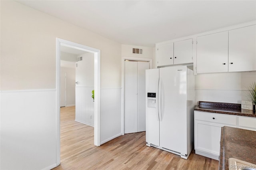
[[[159,146],[158,80],[159,69],[146,70],[146,142],[156,146]],[[155,101],[148,93],[156,93]]]

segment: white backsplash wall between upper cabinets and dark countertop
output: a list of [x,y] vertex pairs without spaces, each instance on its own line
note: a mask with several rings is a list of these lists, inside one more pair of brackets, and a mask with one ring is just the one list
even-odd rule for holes
[[198,101],[241,103],[248,100],[247,87],[256,82],[256,72],[212,73],[195,76],[196,105]]

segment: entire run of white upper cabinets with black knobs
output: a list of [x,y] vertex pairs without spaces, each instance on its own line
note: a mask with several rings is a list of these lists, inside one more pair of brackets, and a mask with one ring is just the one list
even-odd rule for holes
[[156,44],[157,67],[188,63],[194,73],[256,71],[256,22]]

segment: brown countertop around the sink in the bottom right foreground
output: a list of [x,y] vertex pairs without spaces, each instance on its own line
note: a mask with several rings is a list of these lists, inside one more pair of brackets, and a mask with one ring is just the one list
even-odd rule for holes
[[256,164],[256,131],[221,128],[219,170],[228,170],[228,158]]

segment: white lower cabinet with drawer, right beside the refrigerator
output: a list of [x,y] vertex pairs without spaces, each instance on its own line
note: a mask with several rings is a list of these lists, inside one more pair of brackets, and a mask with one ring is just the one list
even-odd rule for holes
[[219,160],[221,127],[236,127],[236,116],[194,111],[196,154]]

